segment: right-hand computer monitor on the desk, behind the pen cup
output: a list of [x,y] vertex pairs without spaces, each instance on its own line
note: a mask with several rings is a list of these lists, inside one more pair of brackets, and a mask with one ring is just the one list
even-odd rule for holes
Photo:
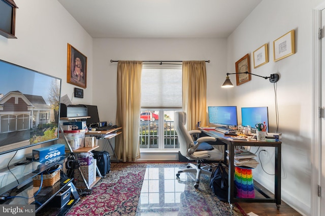
[[255,124],[265,122],[266,132],[269,132],[268,107],[242,107],[241,110],[243,126],[255,129]]

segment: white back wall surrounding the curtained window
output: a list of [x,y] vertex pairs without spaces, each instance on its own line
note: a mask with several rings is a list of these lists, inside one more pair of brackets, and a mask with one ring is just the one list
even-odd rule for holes
[[117,62],[111,59],[210,60],[206,63],[207,105],[225,105],[225,91],[220,89],[226,73],[225,52],[225,39],[94,39],[92,102],[98,105],[101,120],[115,122]]

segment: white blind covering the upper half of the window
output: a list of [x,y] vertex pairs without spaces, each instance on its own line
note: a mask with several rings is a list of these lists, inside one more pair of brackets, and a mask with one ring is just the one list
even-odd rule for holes
[[182,107],[182,65],[143,65],[141,107]]

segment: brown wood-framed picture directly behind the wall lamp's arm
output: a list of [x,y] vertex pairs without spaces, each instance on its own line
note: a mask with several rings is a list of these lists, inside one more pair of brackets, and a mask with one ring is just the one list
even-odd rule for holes
[[[245,72],[248,73],[245,73]],[[250,66],[249,66],[249,54],[246,54],[243,58],[236,62],[236,83],[237,85],[248,82],[250,77]]]

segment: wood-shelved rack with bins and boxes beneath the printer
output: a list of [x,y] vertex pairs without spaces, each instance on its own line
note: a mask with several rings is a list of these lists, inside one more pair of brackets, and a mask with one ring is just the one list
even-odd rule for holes
[[[90,116],[78,116],[78,117],[63,117],[60,118],[60,120],[66,120],[66,121],[77,121],[79,119],[86,119],[89,118]],[[81,147],[81,148],[73,148],[69,142],[69,140],[67,139],[67,132],[63,131],[62,125],[60,125],[60,134],[62,136],[62,138],[64,139],[64,143],[65,145],[68,147],[70,153],[76,153],[76,154],[80,154],[80,153],[84,153],[84,152],[91,152],[92,150],[99,148],[99,146],[94,146],[94,147]],[[84,133],[82,135],[84,137]],[[78,135],[77,135],[77,138]],[[84,138],[83,138],[84,139]],[[74,146],[76,147],[76,146]],[[73,155],[73,158],[75,161],[78,161],[78,155]],[[74,172],[74,179],[75,179],[75,186],[78,189],[88,189],[91,190],[91,188],[98,182],[101,180],[102,175],[100,174],[100,171],[97,167],[96,164],[88,164],[85,166],[81,166],[80,164],[77,165],[78,167],[76,167],[73,172]],[[91,169],[90,166],[94,166],[94,169]],[[88,169],[87,169],[88,168]],[[91,178],[91,175],[87,172],[87,171],[93,171],[93,172],[97,172],[99,177],[94,177],[93,179]],[[88,174],[88,178],[86,177],[86,175]],[[77,178],[76,178],[77,176]],[[93,175],[94,176],[94,175]],[[88,184],[89,183],[89,184]]]

